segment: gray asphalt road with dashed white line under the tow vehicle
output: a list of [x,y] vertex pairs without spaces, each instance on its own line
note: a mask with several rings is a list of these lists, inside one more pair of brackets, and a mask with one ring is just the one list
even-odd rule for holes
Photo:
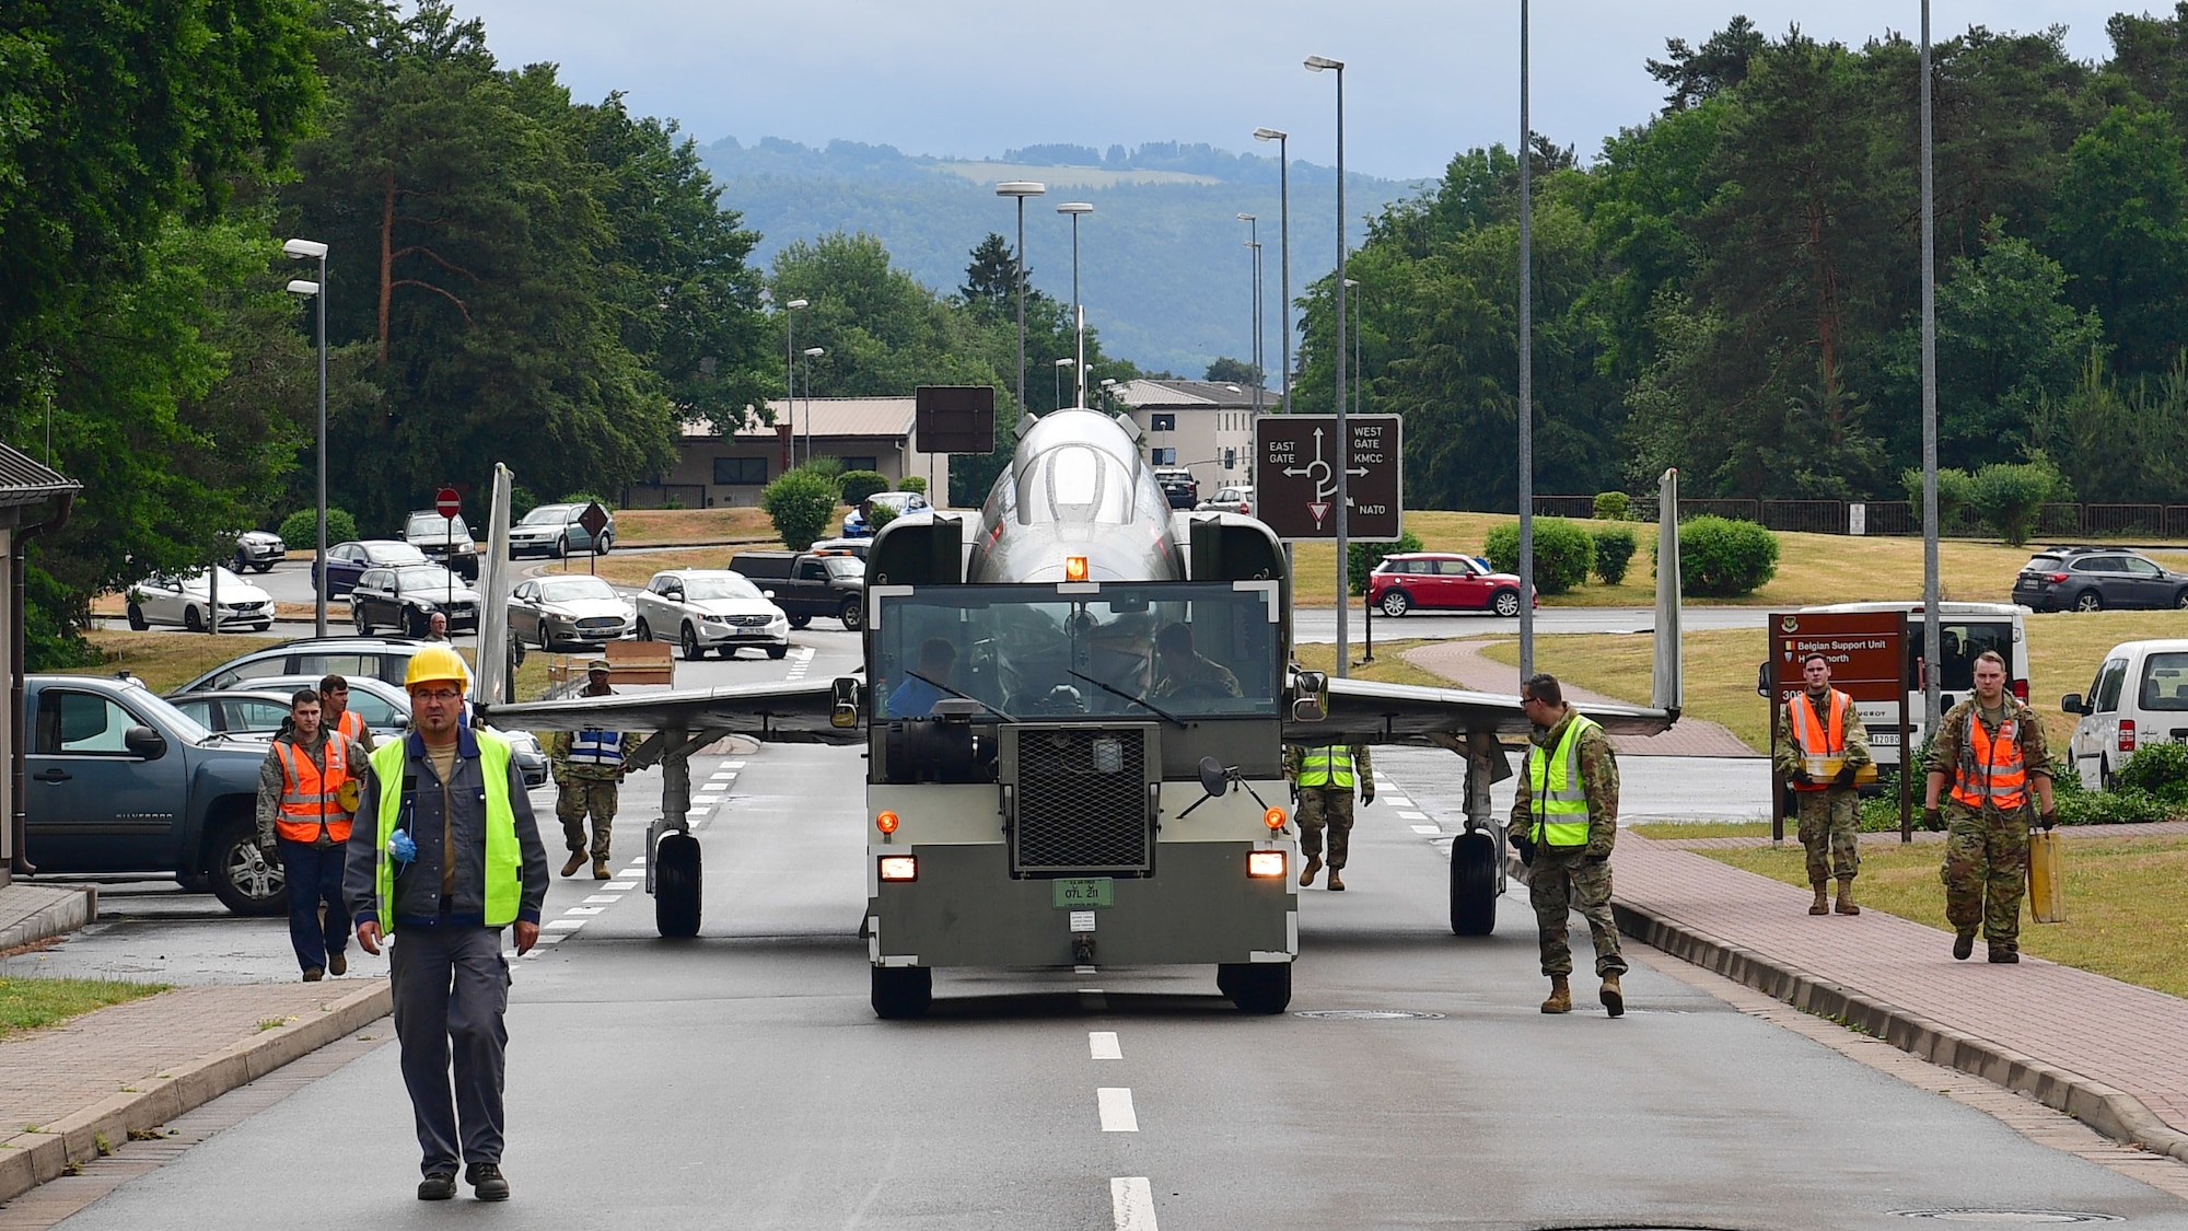
[[[746,668],[796,659],[698,670]],[[1882,1231],[1908,1227],[1893,1211],[2004,1207],[2188,1229],[2175,1198],[1648,966],[1626,1019],[1545,1019],[1523,900],[1492,937],[1444,924],[1446,859],[1416,826],[1457,828],[1457,758],[1376,760],[1392,786],[1361,813],[1350,891],[1302,894],[1291,1014],[1241,1016],[1203,968],[991,970],[941,973],[928,1021],[882,1023],[858,940],[858,749],[700,758],[700,795],[720,797],[698,830],[702,935],[659,940],[632,876],[558,878],[565,940],[512,964],[510,1207],[414,1200],[409,1106],[379,1047],[66,1227],[232,1224],[241,1198],[311,1227]],[[656,797],[656,773],[630,782],[626,832]],[[621,841],[615,867],[635,854]],[[287,962],[274,922],[101,929],[46,966],[123,948],[238,964],[265,937]],[[1593,1005],[1593,979],[1575,990]]]

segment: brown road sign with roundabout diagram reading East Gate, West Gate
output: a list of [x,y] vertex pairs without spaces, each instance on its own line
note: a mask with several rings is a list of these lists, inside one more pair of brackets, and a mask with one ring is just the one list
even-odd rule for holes
[[[1346,495],[1354,543],[1392,543],[1405,510],[1396,414],[1348,414]],[[1254,423],[1254,513],[1278,539],[1337,537],[1337,416],[1265,414]]]

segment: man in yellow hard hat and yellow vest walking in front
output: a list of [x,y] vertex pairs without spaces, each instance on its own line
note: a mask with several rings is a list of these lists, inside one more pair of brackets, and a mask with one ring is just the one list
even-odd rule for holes
[[[547,848],[510,743],[459,723],[470,672],[449,646],[411,655],[411,729],[372,753],[350,830],[344,896],[357,944],[379,953],[403,933],[387,973],[396,1040],[424,1159],[418,1200],[455,1196],[455,1165],[479,1200],[508,1200],[501,1174],[501,1080],[510,964],[540,937]],[[449,1060],[455,1056],[451,1089]],[[453,1097],[451,1097],[453,1093]]]

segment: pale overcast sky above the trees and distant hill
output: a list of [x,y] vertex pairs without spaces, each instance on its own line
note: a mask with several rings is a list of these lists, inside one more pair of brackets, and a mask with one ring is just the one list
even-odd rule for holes
[[[1335,79],[1346,61],[1346,166],[1435,175],[1459,149],[1518,131],[1518,4],[1431,0],[457,0],[484,15],[503,66],[556,61],[580,99],[630,94],[700,142],[781,136],[1000,156],[1149,140],[1245,151],[1258,125],[1289,129],[1293,158],[1335,160]],[[1939,39],[2068,28],[2081,59],[2107,53],[2098,0],[1936,0]],[[2133,2],[2170,11],[2170,2]],[[1643,61],[1667,37],[1700,44],[1733,13],[1770,35],[1799,22],[1860,44],[1910,37],[1919,0],[1543,0],[1534,4],[1534,127],[1593,153],[1641,123],[1663,88]]]

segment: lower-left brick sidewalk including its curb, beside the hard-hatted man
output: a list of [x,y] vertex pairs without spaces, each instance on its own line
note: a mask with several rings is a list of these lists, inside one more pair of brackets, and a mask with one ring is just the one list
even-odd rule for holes
[[0,1200],[387,1016],[387,979],[175,988],[0,1040]]

